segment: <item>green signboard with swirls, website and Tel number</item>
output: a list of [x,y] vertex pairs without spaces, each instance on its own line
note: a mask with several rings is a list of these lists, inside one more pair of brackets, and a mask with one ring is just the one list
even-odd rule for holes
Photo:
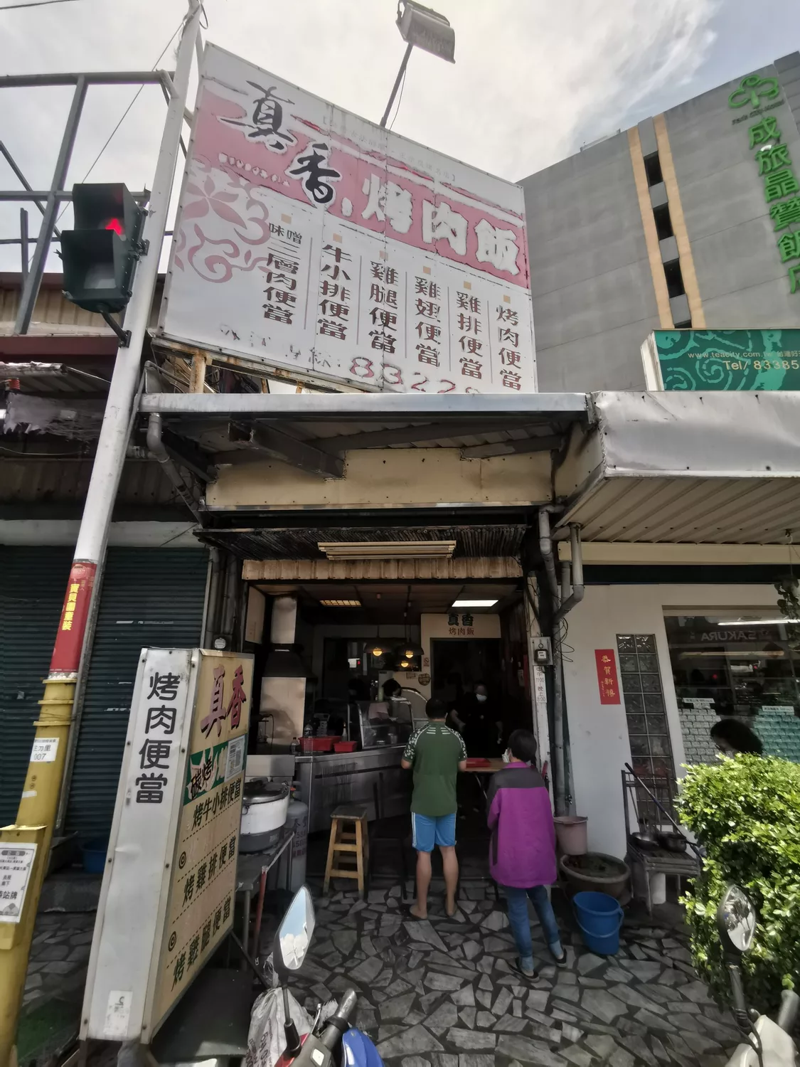
[[656,330],[642,356],[649,388],[800,391],[800,330]]

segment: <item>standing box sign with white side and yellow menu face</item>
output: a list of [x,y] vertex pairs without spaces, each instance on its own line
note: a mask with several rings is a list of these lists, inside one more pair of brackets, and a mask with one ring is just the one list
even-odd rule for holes
[[230,928],[252,674],[252,656],[143,650],[84,1037],[151,1037]]

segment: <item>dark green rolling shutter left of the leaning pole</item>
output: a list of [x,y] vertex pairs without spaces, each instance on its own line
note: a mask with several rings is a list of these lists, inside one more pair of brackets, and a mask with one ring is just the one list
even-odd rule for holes
[[0,546],[0,826],[17,817],[71,548]]

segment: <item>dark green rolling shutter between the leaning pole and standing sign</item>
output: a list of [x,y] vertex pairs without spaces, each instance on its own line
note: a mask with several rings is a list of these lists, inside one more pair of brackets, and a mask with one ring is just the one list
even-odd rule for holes
[[[66,830],[108,835],[143,648],[197,648],[208,553],[111,548],[83,697]],[[58,619],[57,619],[58,621]]]

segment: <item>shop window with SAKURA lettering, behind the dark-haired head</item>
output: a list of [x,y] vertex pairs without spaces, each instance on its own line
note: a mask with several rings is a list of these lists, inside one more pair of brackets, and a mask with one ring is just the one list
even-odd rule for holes
[[800,633],[761,615],[667,616],[672,678],[687,763],[713,763],[710,729],[738,718],[768,755],[800,763]]

